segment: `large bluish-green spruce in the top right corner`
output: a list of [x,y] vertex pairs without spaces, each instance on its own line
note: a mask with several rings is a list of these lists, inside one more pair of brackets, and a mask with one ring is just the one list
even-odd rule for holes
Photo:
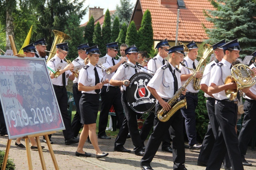
[[216,10],[204,11],[212,28],[205,29],[209,36],[206,43],[214,44],[238,38],[241,56],[256,50],[256,4],[248,0],[209,0]]

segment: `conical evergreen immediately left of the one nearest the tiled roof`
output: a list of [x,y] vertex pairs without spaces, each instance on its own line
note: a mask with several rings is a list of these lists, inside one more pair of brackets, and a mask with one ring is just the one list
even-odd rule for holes
[[127,29],[125,43],[128,44],[128,46],[131,46],[133,44],[136,45],[137,38],[138,38],[138,33],[136,30],[135,22],[131,21],[131,23]]

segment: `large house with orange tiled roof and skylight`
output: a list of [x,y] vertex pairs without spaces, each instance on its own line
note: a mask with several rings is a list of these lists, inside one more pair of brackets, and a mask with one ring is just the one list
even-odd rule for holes
[[187,44],[194,40],[200,45],[203,40],[208,39],[203,26],[213,26],[203,14],[203,10],[214,10],[208,0],[137,0],[130,19],[135,22],[137,30],[147,9],[152,17],[155,44],[165,38],[171,46],[175,44],[178,9],[180,12],[177,41]]

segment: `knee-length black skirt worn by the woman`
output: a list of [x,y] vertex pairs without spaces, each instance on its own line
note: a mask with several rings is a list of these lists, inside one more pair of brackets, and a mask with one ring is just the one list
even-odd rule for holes
[[79,101],[81,123],[88,125],[96,123],[99,110],[100,94],[83,93]]

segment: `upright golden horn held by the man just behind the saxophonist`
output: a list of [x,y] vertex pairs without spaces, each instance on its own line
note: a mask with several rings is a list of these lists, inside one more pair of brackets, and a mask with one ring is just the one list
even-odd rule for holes
[[[196,71],[200,71],[202,74],[203,74],[203,71],[204,71],[204,68],[207,64],[207,62],[209,62],[210,60],[210,56],[212,55],[213,53],[213,49],[211,47],[210,44],[204,44],[203,45],[203,48],[204,48],[204,52],[203,52],[203,57],[199,57],[200,60],[197,64],[197,67],[196,67]],[[193,82],[193,89],[194,90],[199,90],[200,89],[200,82],[201,82],[202,78],[195,78],[194,82]]]

